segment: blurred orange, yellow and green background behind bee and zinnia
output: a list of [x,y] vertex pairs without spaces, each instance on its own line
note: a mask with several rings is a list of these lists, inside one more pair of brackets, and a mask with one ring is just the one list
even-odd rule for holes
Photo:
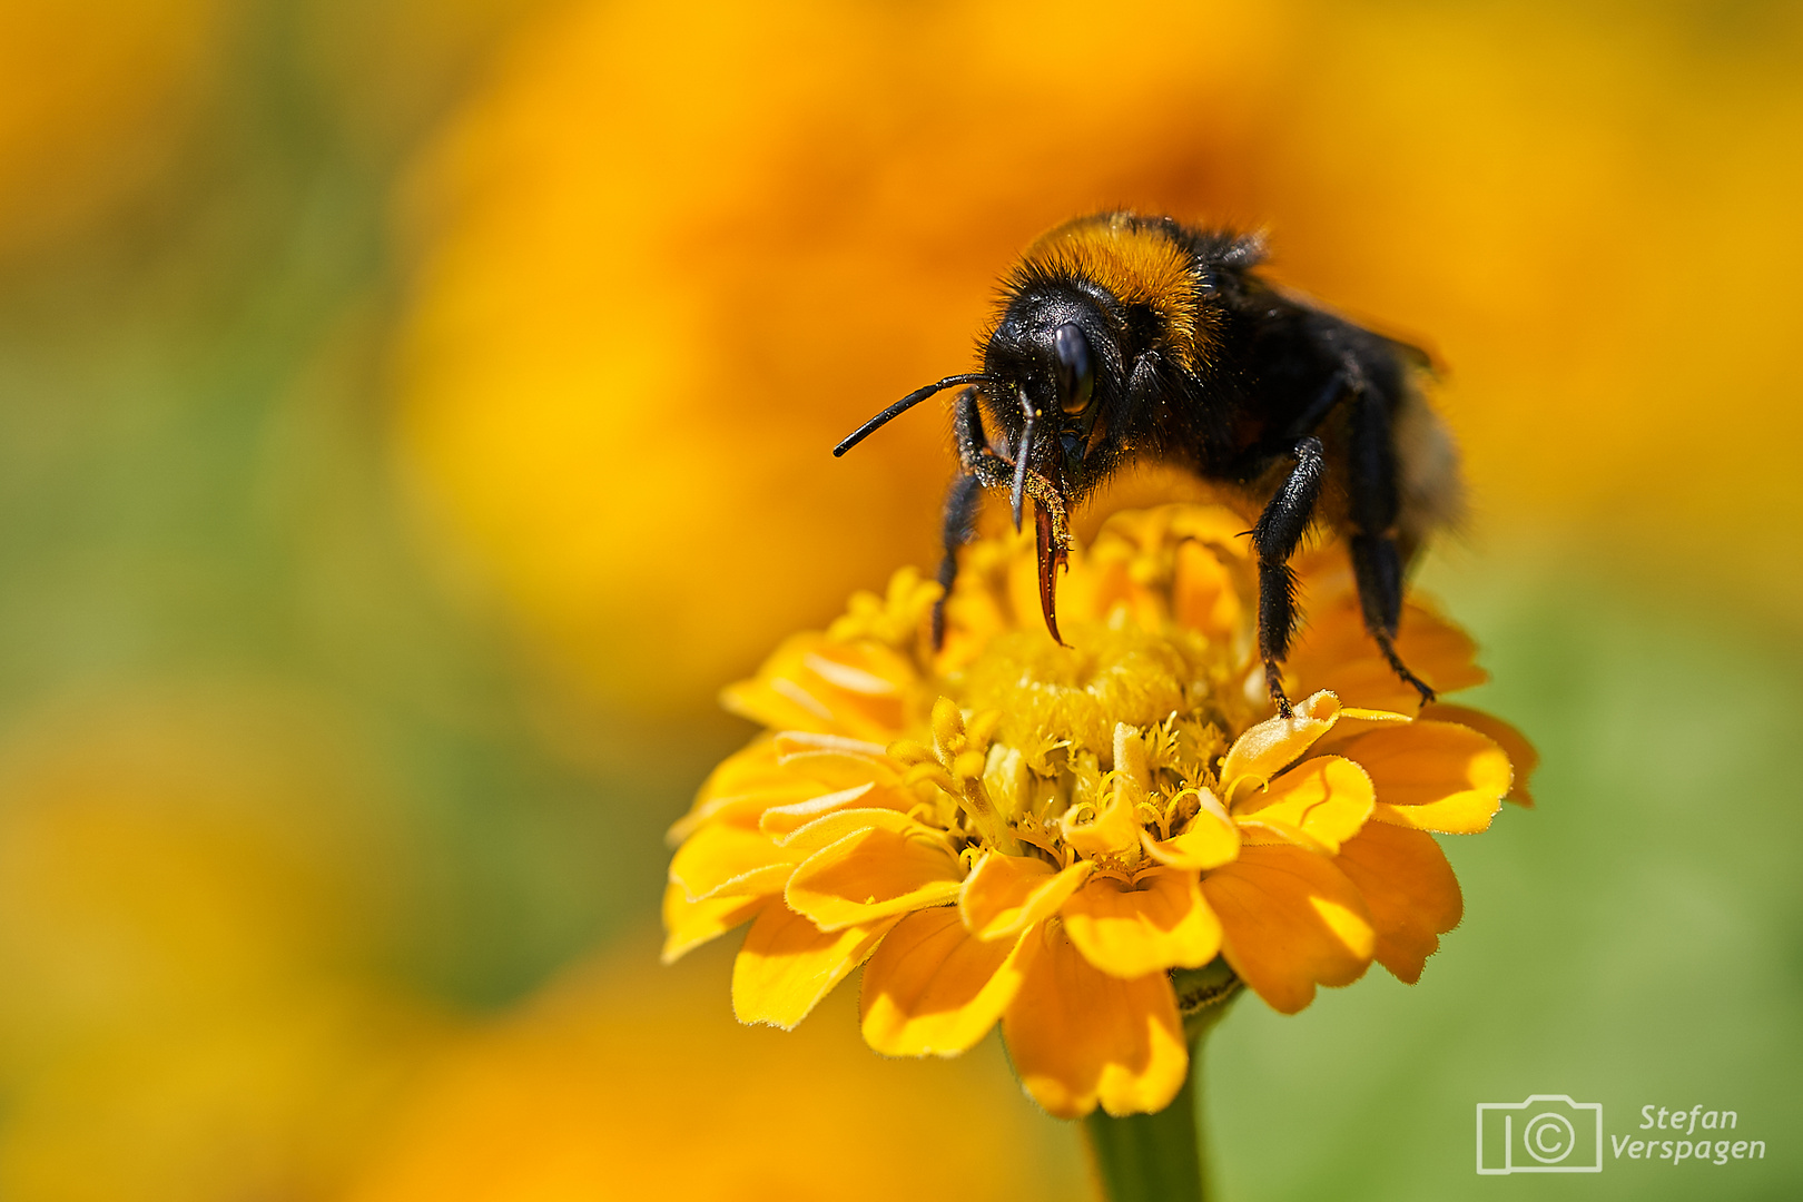
[[[932,553],[941,418],[826,449],[1112,204],[1433,348],[1423,580],[1543,753],[1421,986],[1215,1034],[1222,1197],[1803,1193],[1798,61],[1771,0],[0,0],[0,1197],[1087,1197],[993,1042],[654,946],[718,687]],[[1769,1159],[1475,1179],[1529,1092]]]

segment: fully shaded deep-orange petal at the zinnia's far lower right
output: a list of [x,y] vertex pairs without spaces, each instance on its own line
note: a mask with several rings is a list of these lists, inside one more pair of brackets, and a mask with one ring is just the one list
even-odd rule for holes
[[1377,962],[1408,984],[1421,980],[1439,935],[1464,915],[1459,878],[1441,845],[1426,831],[1374,822],[1347,840],[1334,863],[1365,894]]

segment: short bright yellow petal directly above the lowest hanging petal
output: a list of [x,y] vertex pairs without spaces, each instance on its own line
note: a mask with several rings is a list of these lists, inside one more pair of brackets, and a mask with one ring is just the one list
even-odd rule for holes
[[1096,876],[1064,903],[1064,932],[1091,964],[1132,980],[1167,968],[1201,968],[1221,952],[1221,923],[1195,872],[1147,869],[1129,885]]

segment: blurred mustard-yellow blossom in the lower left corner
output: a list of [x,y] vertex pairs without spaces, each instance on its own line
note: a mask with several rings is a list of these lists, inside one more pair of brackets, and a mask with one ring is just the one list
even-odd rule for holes
[[0,750],[0,1195],[321,1195],[447,1027],[391,973],[415,869],[294,697],[67,705]]

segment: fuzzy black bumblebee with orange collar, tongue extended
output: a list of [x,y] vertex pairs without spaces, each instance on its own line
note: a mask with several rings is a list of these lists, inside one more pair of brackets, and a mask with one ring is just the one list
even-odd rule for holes
[[1345,539],[1367,631],[1432,701],[1396,652],[1405,566],[1460,496],[1451,438],[1421,393],[1430,360],[1269,283],[1262,258],[1255,236],[1161,216],[1060,225],[1004,279],[983,369],[909,393],[833,454],[963,386],[939,582],[948,596],[984,488],[1008,490],[1015,530],[1031,497],[1040,609],[1060,643],[1071,506],[1134,460],[1186,467],[1258,512],[1258,652],[1280,714],[1291,714],[1282,663],[1298,618],[1289,559],[1311,523]]

